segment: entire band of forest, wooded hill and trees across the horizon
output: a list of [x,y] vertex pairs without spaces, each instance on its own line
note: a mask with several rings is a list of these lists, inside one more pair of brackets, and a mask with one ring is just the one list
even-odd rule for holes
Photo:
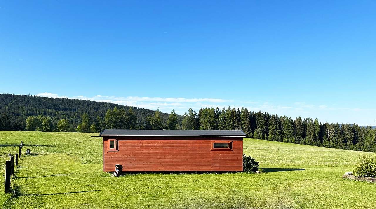
[[246,108],[189,109],[185,115],[67,98],[0,94],[0,130],[100,132],[104,129],[242,130],[248,137],[376,151],[376,129],[278,116]]

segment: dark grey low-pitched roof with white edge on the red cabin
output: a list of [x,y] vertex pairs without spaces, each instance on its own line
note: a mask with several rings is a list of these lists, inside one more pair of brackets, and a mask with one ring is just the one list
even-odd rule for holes
[[218,136],[245,137],[243,131],[208,131],[208,130],[123,130],[106,129],[99,136]]

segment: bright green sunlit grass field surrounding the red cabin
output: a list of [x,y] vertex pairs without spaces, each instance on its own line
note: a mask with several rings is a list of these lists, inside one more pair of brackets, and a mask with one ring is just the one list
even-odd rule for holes
[[[362,152],[244,139],[244,153],[265,173],[137,174],[102,172],[94,133],[0,132],[9,152],[30,148],[0,192],[3,208],[376,208],[376,184],[342,179]],[[369,153],[368,153],[369,154]],[[4,185],[4,177],[2,177]]]

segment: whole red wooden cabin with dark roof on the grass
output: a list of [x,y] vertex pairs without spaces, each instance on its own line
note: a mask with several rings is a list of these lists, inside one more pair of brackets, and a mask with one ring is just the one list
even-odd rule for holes
[[243,131],[104,130],[103,171],[242,171]]

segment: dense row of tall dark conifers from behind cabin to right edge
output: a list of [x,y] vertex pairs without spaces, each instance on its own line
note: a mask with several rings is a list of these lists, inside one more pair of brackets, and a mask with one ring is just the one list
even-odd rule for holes
[[376,129],[358,124],[321,123],[318,119],[270,115],[247,108],[190,109],[183,129],[242,130],[247,136],[278,142],[324,146],[358,151],[376,151]]

